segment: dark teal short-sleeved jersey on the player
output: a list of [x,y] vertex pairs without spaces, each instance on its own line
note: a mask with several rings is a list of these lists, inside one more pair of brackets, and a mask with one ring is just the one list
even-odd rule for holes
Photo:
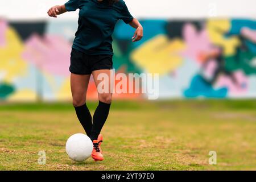
[[119,19],[130,23],[133,16],[123,0],[110,5],[108,0],[70,0],[68,11],[79,9],[79,27],[73,48],[89,55],[113,55],[112,34]]

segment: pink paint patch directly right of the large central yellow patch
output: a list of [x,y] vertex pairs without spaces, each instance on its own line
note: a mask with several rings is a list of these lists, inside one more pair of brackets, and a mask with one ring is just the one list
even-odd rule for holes
[[186,48],[185,51],[182,52],[182,55],[189,59],[196,60],[198,63],[201,63],[198,59],[200,53],[210,52],[213,49],[207,31],[205,29],[197,31],[196,27],[191,23],[185,24],[183,28],[183,38]]

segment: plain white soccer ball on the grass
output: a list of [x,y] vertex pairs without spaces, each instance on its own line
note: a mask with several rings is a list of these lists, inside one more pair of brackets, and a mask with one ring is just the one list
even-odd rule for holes
[[75,134],[68,138],[66,152],[72,160],[83,162],[92,154],[93,143],[85,134]]

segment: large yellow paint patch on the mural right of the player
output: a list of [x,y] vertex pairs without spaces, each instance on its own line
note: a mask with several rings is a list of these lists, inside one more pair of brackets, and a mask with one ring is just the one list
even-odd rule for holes
[[135,49],[131,59],[148,73],[165,74],[181,65],[180,51],[184,48],[182,40],[170,40],[166,35],[158,35]]

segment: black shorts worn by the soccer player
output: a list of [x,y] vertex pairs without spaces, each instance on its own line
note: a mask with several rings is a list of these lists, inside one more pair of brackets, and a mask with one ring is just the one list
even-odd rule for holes
[[113,68],[112,55],[87,55],[72,48],[69,71],[76,75],[90,75],[93,71]]

